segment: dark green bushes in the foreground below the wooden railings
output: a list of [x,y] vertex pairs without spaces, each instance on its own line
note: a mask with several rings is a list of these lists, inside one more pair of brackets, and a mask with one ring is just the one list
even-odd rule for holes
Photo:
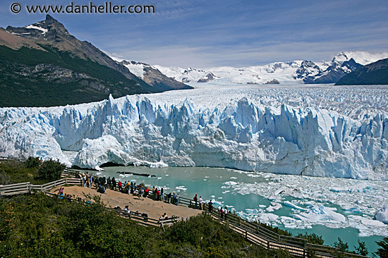
[[[42,193],[0,198],[0,257],[289,257],[195,216],[166,231]],[[3,216],[4,215],[4,216]]]

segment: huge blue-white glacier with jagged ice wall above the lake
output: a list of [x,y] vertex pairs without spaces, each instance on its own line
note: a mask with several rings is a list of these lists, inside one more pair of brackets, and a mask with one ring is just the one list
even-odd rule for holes
[[1,108],[0,156],[388,180],[386,87],[193,85],[90,104]]

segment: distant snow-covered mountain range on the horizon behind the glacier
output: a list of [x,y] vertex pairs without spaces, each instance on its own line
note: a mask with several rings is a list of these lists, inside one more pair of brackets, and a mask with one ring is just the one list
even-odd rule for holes
[[[360,66],[388,57],[388,52],[371,54],[365,51],[346,51],[332,61],[291,61],[269,63],[265,66],[243,68],[214,67],[206,69],[180,67],[154,67],[180,82],[210,82],[216,84],[265,84],[277,80],[289,83],[335,83]],[[204,80],[206,78],[206,80]]]

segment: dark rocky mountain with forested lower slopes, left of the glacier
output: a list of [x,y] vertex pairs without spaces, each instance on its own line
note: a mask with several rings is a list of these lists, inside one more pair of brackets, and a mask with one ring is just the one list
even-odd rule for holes
[[0,56],[0,106],[60,106],[192,88],[161,73],[145,82],[49,15],[0,28]]

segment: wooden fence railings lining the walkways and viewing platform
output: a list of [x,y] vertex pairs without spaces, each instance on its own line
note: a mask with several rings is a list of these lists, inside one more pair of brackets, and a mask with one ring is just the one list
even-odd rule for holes
[[[62,178],[54,182],[50,182],[44,185],[32,185],[31,183],[18,183],[13,185],[0,185],[0,196],[6,195],[21,195],[30,192],[42,191],[47,195],[55,195],[49,193],[49,190],[61,185],[81,185],[80,178],[76,178],[79,172],[71,169],[63,171],[63,176],[71,176],[71,178]],[[152,195],[148,195],[152,197]],[[192,199],[185,197],[179,197],[179,205],[194,208],[195,202]],[[212,218],[219,223],[224,223],[229,226],[236,233],[243,235],[243,237],[249,242],[253,242],[256,245],[260,245],[267,249],[282,249],[287,250],[289,254],[295,257],[348,257],[348,258],[364,258],[364,256],[358,254],[352,254],[347,252],[340,252],[336,247],[329,247],[326,245],[313,245],[307,242],[305,239],[289,237],[286,235],[279,235],[270,231],[269,229],[260,226],[259,223],[253,221],[246,221],[236,214],[229,213],[227,219],[221,218],[221,214],[218,209],[212,209],[209,211],[209,206],[203,203],[205,213],[210,214]],[[112,209],[112,208],[107,208]],[[131,212],[122,209],[114,209],[119,216],[125,216],[129,219],[133,219],[138,223],[152,226],[161,226],[164,229],[165,225],[171,225],[177,221],[183,220],[182,218],[170,218],[166,220],[157,220],[143,216],[140,213]],[[187,218],[186,218],[187,219]]]

